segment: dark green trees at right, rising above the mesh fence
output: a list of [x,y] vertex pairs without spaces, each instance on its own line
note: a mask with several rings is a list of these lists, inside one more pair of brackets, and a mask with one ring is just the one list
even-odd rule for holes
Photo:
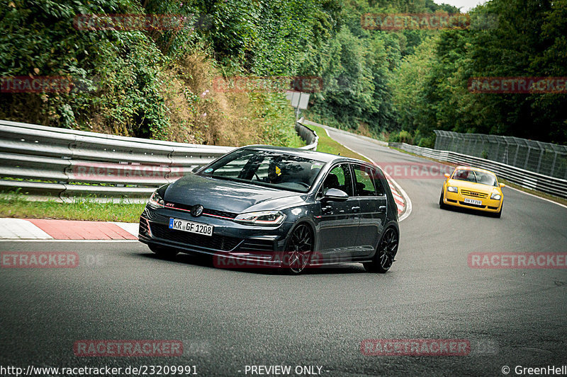
[[429,146],[434,129],[567,143],[566,94],[471,93],[467,86],[473,77],[567,76],[566,14],[564,0],[492,0],[473,11],[497,16],[492,27],[424,42],[392,82],[403,129]]

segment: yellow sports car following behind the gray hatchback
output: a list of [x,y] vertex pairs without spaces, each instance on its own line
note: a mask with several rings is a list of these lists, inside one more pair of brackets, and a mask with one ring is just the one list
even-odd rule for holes
[[455,206],[502,215],[504,183],[498,183],[491,171],[467,166],[457,166],[451,175],[445,174],[439,207]]

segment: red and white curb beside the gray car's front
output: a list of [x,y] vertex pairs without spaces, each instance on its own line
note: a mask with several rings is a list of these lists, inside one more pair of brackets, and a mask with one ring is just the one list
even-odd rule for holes
[[137,240],[137,223],[0,219],[0,240]]

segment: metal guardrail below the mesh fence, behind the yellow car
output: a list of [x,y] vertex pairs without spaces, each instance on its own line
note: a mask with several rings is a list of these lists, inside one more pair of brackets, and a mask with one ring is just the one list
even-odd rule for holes
[[549,175],[534,173],[505,163],[499,163],[481,157],[467,156],[466,154],[453,151],[439,151],[437,149],[424,148],[405,143],[388,143],[388,145],[395,146],[403,151],[415,153],[419,156],[487,169],[493,171],[498,177],[504,178],[520,187],[567,199],[567,180],[561,178],[550,177]]

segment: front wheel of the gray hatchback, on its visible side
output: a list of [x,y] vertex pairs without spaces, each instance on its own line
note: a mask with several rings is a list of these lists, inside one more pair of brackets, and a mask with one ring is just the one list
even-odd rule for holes
[[293,229],[286,245],[283,267],[291,274],[301,274],[313,254],[313,232],[307,224],[299,224]]

